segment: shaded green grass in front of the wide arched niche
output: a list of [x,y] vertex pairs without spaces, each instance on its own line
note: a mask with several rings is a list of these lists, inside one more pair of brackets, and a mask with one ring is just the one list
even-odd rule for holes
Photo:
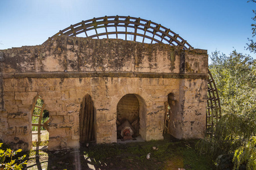
[[[158,150],[152,150],[157,146]],[[166,142],[150,141],[140,143],[128,143],[126,145],[95,145],[90,146],[84,154],[93,158],[94,164],[102,166],[102,163],[131,168],[132,163],[139,163],[149,169],[185,168],[185,169],[213,169],[212,160],[206,156],[200,156],[194,149],[195,141]],[[150,160],[146,155],[151,153]],[[113,159],[115,158],[115,159]],[[171,167],[169,167],[171,166]],[[134,167],[138,168],[138,167]]]

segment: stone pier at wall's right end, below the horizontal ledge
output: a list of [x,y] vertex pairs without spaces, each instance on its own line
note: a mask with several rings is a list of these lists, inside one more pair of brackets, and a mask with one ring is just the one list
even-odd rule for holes
[[204,138],[207,80],[185,79],[184,88],[183,138]]

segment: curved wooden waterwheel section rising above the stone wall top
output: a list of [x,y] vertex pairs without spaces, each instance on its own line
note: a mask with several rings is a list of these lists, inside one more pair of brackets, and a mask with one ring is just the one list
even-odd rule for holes
[[[125,31],[119,31],[118,28],[125,28]],[[98,29],[105,28],[105,32],[98,33]],[[108,28],[114,28],[111,32]],[[134,32],[127,31],[127,28],[134,29]],[[89,31],[94,30],[95,33],[89,34]],[[101,30],[102,31],[102,30]],[[151,20],[135,18],[131,16],[104,16],[100,18],[93,18],[89,20],[83,20],[80,23],[70,25],[69,27],[60,30],[58,33],[49,37],[49,40],[55,39],[56,36],[77,36],[81,33],[85,33],[86,37],[100,39],[100,36],[106,36],[109,39],[109,35],[115,35],[118,39],[118,35],[133,35],[133,41],[144,43],[145,39],[151,40],[151,44],[154,42],[169,44],[174,46],[182,46],[183,49],[192,49],[192,46],[188,44],[178,34],[170,29],[163,27],[161,24],[151,22]],[[142,37],[142,41],[139,41],[137,37]],[[43,44],[45,44],[45,41]]]

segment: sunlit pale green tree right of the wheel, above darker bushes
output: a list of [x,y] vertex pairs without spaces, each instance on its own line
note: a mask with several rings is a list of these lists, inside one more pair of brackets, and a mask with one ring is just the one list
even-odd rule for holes
[[224,113],[255,113],[256,61],[234,50],[229,56],[214,52],[209,69],[217,82]]

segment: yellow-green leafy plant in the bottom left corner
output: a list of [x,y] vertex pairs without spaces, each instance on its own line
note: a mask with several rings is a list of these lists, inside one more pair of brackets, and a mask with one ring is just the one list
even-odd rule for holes
[[[0,147],[2,146],[3,143],[0,143]],[[14,169],[14,170],[19,170],[23,168],[23,165],[27,164],[27,160],[22,162],[26,158],[26,155],[23,155],[18,158],[19,163],[16,163],[16,160],[13,159],[13,156],[15,156],[18,152],[21,152],[22,150],[19,149],[17,151],[13,151],[10,148],[7,148],[6,151],[0,150],[0,169],[1,170],[9,170],[9,169]],[[9,161],[6,162],[6,158],[9,158]]]

